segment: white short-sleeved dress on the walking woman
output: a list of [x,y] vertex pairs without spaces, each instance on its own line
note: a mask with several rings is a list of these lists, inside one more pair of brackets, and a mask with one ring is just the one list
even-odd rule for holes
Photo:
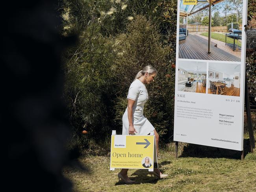
[[[127,99],[135,100],[132,107],[132,122],[138,135],[148,135],[155,128],[143,115],[144,104],[148,100],[148,92],[145,85],[136,79],[130,85]],[[127,107],[122,116],[122,135],[129,135],[129,121]]]

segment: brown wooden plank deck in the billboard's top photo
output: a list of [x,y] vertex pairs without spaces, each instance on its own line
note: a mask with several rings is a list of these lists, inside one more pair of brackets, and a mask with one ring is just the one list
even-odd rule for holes
[[187,36],[179,41],[179,58],[203,59],[216,61],[241,61],[240,58],[217,48],[217,44],[211,42],[211,53],[208,54],[208,41],[197,35]]

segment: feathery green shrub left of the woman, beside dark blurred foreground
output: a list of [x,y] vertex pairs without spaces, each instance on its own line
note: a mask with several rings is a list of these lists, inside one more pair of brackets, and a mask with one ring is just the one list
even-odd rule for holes
[[64,95],[75,138],[80,137],[83,128],[89,131],[89,137],[98,133],[106,137],[111,129],[112,46],[108,38],[93,32],[95,26],[89,26],[66,57]]

